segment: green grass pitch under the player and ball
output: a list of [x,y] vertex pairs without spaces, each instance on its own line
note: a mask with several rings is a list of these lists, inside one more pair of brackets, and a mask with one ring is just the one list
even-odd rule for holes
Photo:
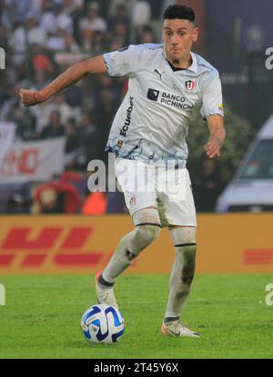
[[183,320],[200,339],[161,335],[168,276],[126,275],[116,298],[126,332],[114,345],[90,345],[80,318],[96,303],[93,275],[2,276],[0,358],[272,358],[269,274],[197,275]]

